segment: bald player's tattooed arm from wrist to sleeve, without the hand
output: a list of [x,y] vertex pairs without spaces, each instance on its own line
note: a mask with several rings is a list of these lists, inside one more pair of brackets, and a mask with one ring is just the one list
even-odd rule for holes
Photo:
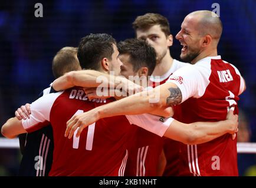
[[138,115],[152,113],[157,109],[165,108],[166,105],[178,104],[181,100],[179,88],[173,83],[164,83],[152,90],[100,106],[96,112],[99,119],[117,115]]

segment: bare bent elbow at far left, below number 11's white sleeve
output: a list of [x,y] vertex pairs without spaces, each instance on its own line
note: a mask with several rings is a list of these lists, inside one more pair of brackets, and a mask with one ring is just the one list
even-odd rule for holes
[[21,133],[27,133],[27,131],[22,126],[21,120],[18,120],[17,117],[12,117],[2,126],[1,133],[8,139],[13,139]]

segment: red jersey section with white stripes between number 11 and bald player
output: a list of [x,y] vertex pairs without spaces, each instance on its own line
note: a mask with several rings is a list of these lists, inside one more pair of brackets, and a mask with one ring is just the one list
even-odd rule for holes
[[161,137],[142,127],[131,126],[132,133],[129,140],[129,157],[125,176],[156,176],[162,151]]

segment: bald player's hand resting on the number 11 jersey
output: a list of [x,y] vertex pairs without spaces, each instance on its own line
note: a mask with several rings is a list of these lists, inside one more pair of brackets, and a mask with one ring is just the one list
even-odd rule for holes
[[68,136],[68,139],[71,139],[73,136],[74,132],[77,130],[77,135],[76,137],[79,137],[81,132],[83,131],[84,128],[87,126],[91,125],[92,123],[97,122],[100,117],[94,109],[81,113],[80,115],[75,115],[71,117],[70,120],[67,122],[67,129],[65,130],[65,137]]

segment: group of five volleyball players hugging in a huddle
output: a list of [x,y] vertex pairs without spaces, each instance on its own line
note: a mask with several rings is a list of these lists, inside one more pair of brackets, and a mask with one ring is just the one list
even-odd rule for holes
[[2,126],[19,135],[20,176],[238,176],[246,86],[218,55],[219,17],[185,17],[175,36],[184,62],[170,55],[164,16],[137,16],[133,29],[133,39],[90,34],[57,52],[54,82]]

